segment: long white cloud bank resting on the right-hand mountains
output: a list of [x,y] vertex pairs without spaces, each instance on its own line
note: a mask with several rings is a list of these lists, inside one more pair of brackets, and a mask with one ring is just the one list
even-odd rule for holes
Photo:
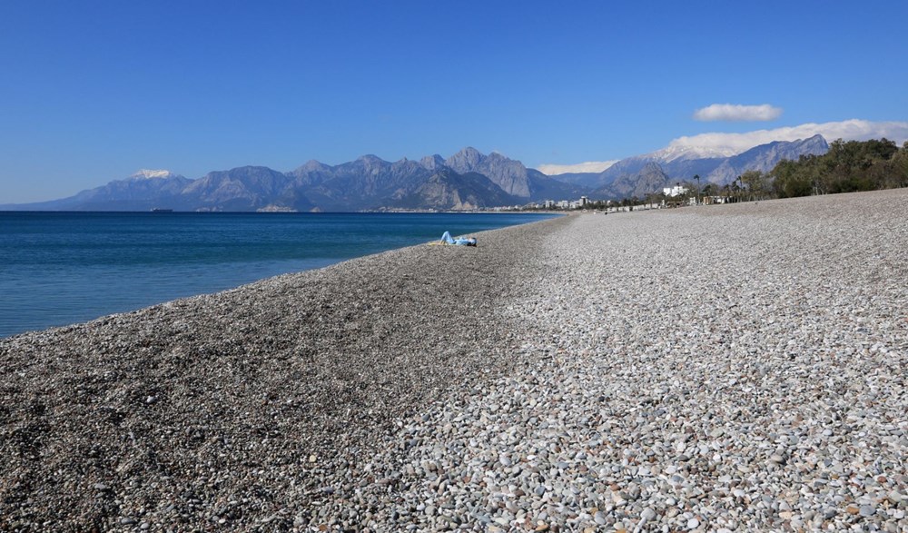
[[799,126],[756,130],[755,132],[747,133],[701,133],[699,135],[678,137],[668,143],[668,148],[700,148],[716,152],[742,153],[759,144],[772,143],[773,141],[796,141],[813,137],[817,133],[823,135],[824,139],[830,143],[835,139],[866,141],[885,137],[902,145],[908,140],[908,122],[876,123],[852,119],[837,123],[806,123]]

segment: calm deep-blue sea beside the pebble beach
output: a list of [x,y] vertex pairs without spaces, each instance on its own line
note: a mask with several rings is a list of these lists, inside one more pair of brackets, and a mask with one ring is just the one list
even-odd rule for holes
[[0,337],[551,216],[0,212]]

